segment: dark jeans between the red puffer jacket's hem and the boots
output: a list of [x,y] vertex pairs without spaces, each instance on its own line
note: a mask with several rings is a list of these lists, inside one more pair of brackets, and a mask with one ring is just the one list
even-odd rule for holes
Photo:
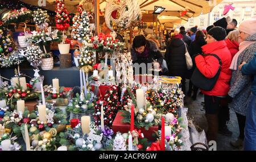
[[205,114],[218,114],[220,111],[221,97],[204,95]]

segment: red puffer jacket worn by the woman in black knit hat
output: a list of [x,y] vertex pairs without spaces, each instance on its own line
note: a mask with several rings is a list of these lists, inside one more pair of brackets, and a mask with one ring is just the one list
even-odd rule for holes
[[[225,40],[214,41],[213,43],[206,44],[202,47],[202,51],[205,54],[216,54],[220,57],[222,62],[222,68],[220,76],[218,80],[210,91],[201,90],[203,94],[206,95],[217,95],[224,96],[228,95],[229,92],[229,81],[231,78],[231,70],[229,69],[231,64],[231,54],[229,52],[228,47],[226,47]],[[195,58],[196,67],[200,70],[200,72],[207,78],[213,78],[219,68],[218,59],[214,56],[202,56],[198,55]]]

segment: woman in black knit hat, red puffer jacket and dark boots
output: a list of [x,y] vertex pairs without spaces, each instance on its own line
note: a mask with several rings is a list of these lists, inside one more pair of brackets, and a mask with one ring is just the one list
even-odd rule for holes
[[[220,111],[220,101],[229,92],[229,81],[231,78],[231,54],[226,47],[226,31],[222,27],[213,27],[207,35],[207,44],[202,47],[205,54],[215,54],[222,62],[220,76],[213,89],[210,91],[201,90],[204,94],[205,115],[208,122],[207,140],[216,140],[218,133],[218,113]],[[195,57],[196,67],[207,78],[213,78],[219,69],[219,61],[214,56],[198,55]]]

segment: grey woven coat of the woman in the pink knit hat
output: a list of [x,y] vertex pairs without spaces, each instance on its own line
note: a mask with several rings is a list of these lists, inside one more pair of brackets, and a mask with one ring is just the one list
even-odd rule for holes
[[[251,44],[242,53],[240,53],[237,60],[237,66],[239,66],[243,61],[249,63],[256,52],[256,34],[249,36],[246,41],[255,41],[255,43]],[[238,68],[232,72],[230,90],[228,94],[233,98],[233,100],[229,104],[229,108],[244,116],[246,115],[246,105],[249,102],[249,96],[251,93],[251,82],[251,76],[242,76],[241,70]]]

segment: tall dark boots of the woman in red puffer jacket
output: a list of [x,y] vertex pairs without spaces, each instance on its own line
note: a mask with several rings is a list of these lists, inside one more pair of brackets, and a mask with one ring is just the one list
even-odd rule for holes
[[218,134],[218,115],[217,114],[205,114],[208,122],[207,141],[216,141]]

